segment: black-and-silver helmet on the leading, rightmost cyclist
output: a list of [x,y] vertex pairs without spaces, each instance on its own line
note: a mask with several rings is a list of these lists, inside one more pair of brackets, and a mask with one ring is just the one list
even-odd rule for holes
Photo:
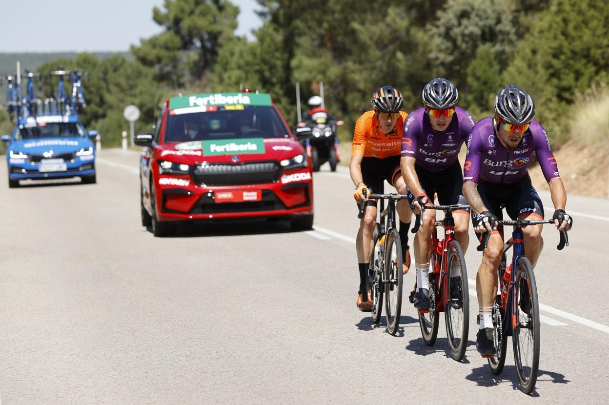
[[535,116],[535,103],[523,89],[507,85],[495,97],[495,113],[505,122],[524,125]]

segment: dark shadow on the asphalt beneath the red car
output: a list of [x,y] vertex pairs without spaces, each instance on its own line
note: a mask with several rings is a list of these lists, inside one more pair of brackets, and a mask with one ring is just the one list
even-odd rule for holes
[[[146,227],[152,233],[152,227]],[[202,236],[242,236],[272,233],[292,233],[287,220],[240,219],[214,222],[184,222],[175,227],[175,234],[168,238],[200,238]]]

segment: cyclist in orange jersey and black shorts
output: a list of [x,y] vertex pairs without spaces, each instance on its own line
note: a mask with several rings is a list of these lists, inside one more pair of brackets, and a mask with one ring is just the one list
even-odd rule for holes
[[[372,96],[373,110],[362,114],[355,124],[351,162],[349,171],[356,187],[354,197],[357,202],[365,201],[366,210],[357,231],[356,250],[359,265],[359,293],[357,308],[370,311],[372,308],[370,290],[366,285],[368,263],[373,249],[373,232],[376,224],[377,202],[369,200],[370,192],[384,192],[384,181],[394,186],[400,194],[406,194],[406,183],[400,169],[400,142],[406,114],[400,111],[404,97],[392,86],[378,88]],[[367,191],[364,194],[364,189]],[[410,267],[408,250],[408,230],[412,211],[407,200],[396,204],[400,217],[400,239],[404,252],[403,272]]]

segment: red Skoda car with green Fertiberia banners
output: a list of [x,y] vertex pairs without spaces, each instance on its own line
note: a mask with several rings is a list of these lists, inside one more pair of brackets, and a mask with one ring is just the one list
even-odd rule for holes
[[155,236],[178,221],[283,218],[313,224],[311,164],[269,94],[172,97],[154,133],[136,136],[142,224]]

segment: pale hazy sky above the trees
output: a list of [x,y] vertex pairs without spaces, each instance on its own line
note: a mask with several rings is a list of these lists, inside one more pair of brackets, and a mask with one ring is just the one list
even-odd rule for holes
[[[262,24],[253,11],[259,9],[258,3],[231,2],[241,9],[237,35],[253,38],[250,31]],[[27,13],[19,13],[19,18],[4,13],[0,52],[128,51],[130,44],[162,30],[152,21],[152,8],[163,0],[28,0],[26,4]]]

